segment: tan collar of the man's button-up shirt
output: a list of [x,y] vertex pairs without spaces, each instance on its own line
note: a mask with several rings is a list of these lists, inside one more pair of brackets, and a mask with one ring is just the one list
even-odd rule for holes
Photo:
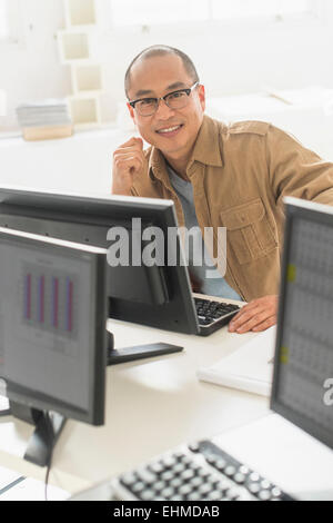
[[[203,165],[212,167],[223,167],[222,151],[220,146],[220,129],[218,121],[204,115],[191,158],[188,164],[188,169],[199,161]],[[167,178],[165,178],[167,175]],[[151,179],[159,178],[165,181],[169,186],[170,181],[167,174],[167,162],[160,149],[152,147],[149,159],[149,176]]]

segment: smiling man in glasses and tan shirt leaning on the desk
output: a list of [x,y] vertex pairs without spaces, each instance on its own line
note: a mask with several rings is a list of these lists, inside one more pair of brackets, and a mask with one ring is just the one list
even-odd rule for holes
[[[222,297],[248,302],[231,332],[276,323],[286,195],[333,205],[333,165],[282,130],[256,121],[225,126],[204,116],[205,92],[182,51],[153,46],[125,75],[141,137],[113,154],[112,193],[173,199],[181,226],[226,227]],[[214,282],[214,280],[212,280]]]

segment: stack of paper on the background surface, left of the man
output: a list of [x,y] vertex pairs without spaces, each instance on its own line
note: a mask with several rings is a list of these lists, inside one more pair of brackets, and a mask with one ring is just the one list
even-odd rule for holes
[[17,117],[26,139],[59,138],[72,134],[67,100],[23,103],[17,107]]

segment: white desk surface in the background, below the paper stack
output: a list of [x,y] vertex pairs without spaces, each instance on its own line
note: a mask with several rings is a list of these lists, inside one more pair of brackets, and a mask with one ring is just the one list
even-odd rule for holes
[[110,127],[57,140],[0,139],[0,186],[109,195],[113,150],[130,136]]

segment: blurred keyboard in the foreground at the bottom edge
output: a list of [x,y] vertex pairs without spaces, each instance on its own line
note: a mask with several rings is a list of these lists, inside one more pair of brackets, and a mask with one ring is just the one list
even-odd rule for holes
[[110,486],[123,501],[293,501],[210,440],[165,453]]

